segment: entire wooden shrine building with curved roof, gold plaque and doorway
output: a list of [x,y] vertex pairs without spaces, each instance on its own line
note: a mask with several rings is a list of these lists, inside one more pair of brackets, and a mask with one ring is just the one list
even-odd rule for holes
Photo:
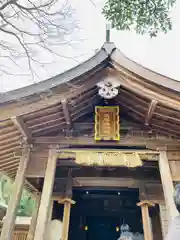
[[11,240],[26,187],[37,208],[25,238],[117,240],[122,224],[163,240],[177,216],[180,82],[111,42],[89,60],[0,96],[0,171],[14,179],[0,240]]

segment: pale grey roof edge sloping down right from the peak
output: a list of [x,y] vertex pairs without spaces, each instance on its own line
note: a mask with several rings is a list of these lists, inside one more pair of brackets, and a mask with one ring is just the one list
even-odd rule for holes
[[180,93],[180,81],[168,78],[160,73],[150,70],[135,61],[126,57],[119,49],[116,49],[111,54],[111,60],[123,66],[128,71],[146,79],[152,84],[160,85],[164,88]]

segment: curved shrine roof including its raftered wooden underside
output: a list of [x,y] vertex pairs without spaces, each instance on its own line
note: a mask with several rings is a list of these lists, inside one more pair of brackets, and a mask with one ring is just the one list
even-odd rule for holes
[[114,103],[122,113],[141,127],[180,141],[180,82],[135,63],[113,43],[105,43],[77,67],[0,96],[0,171],[15,176],[24,139],[71,128],[92,114],[102,101],[97,83],[106,77],[120,83]]

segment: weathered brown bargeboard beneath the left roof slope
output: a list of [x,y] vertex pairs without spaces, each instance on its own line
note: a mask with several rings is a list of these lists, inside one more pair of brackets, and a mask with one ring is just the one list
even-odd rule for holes
[[[34,97],[32,96],[30,99],[24,100],[23,105],[22,105],[22,102],[18,101],[18,102],[8,104],[6,106],[1,106],[0,120],[5,120],[12,116],[20,116],[20,115],[29,114],[29,113],[53,106],[53,105],[55,106],[62,99],[66,98],[67,95],[70,99],[73,97],[79,96],[85,90],[91,89],[101,79],[103,79],[106,71],[102,72],[101,68],[102,67],[100,66],[99,69],[97,68],[97,69],[91,71],[91,73],[87,73],[87,75],[84,78],[81,78],[81,80],[78,79],[78,83],[75,85],[72,85],[71,87],[70,87],[70,84],[66,84],[66,83],[62,84],[60,86],[60,91],[58,93],[52,94],[52,96],[50,96],[48,98],[41,99],[39,97],[35,101],[34,98],[37,98],[37,96],[34,96]],[[95,72],[96,72],[96,75],[92,76]],[[88,81],[88,82],[86,82],[86,84],[84,84],[85,79],[87,79],[90,76],[91,76],[91,78],[90,78],[91,81]]]

